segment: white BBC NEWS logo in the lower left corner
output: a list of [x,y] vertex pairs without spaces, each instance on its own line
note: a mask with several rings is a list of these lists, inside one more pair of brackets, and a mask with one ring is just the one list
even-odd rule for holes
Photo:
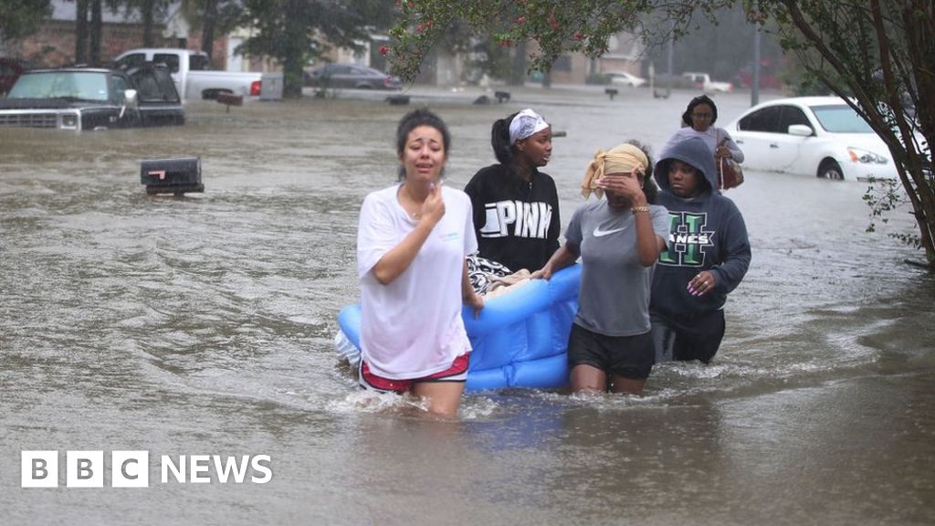
[[[159,468],[162,484],[206,484],[215,480],[221,484],[266,484],[273,478],[269,455],[162,455]],[[104,451],[65,451],[64,471],[67,488],[104,488],[108,473],[111,488],[149,488],[150,452],[111,451],[108,471]],[[22,451],[21,473],[22,488],[58,488],[59,452]]]

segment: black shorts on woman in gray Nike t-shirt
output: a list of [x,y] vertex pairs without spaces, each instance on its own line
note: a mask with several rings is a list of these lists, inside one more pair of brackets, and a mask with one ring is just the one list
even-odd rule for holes
[[653,371],[654,358],[653,337],[649,332],[635,336],[606,336],[578,324],[571,325],[569,370],[576,365],[590,365],[628,380],[645,380]]

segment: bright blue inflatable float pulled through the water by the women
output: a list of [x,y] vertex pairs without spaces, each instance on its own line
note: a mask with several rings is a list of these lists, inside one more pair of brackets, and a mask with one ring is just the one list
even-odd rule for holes
[[[465,389],[567,386],[568,334],[578,311],[580,279],[576,264],[549,281],[530,280],[485,300],[477,318],[465,307],[462,316],[473,347]],[[360,353],[360,314],[359,304],[338,313],[338,354],[352,362]]]

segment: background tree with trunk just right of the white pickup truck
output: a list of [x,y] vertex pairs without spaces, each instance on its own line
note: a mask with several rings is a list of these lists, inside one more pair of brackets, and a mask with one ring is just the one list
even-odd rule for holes
[[271,56],[282,65],[282,95],[302,95],[303,68],[329,47],[360,50],[370,28],[392,21],[390,0],[243,0],[241,25],[254,33],[245,54]]

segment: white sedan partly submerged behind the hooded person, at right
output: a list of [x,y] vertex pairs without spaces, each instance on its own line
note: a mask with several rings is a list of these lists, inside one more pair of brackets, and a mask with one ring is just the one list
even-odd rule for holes
[[743,168],[833,180],[898,177],[883,139],[837,96],[770,100],[726,130],[743,150]]

